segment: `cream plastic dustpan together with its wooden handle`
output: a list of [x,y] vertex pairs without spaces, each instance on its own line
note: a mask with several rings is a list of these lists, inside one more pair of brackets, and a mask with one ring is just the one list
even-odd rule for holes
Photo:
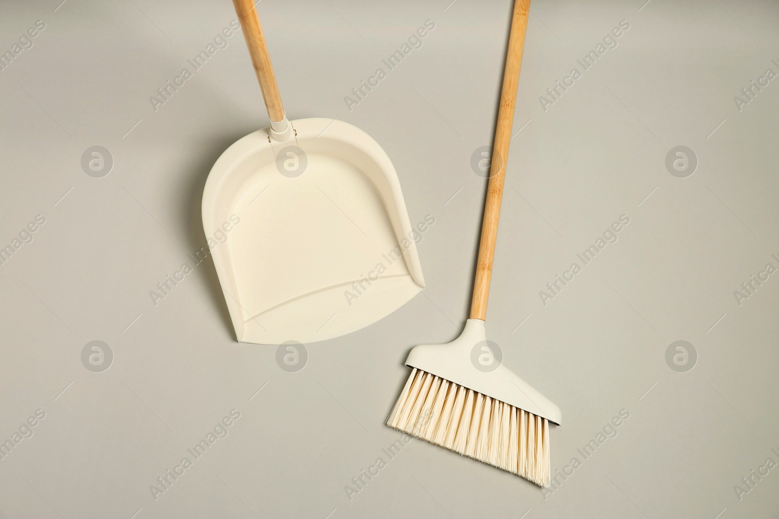
[[219,157],[203,192],[206,236],[227,237],[211,254],[235,335],[278,345],[364,328],[425,287],[397,173],[351,124],[287,120],[252,2],[234,4],[271,121]]

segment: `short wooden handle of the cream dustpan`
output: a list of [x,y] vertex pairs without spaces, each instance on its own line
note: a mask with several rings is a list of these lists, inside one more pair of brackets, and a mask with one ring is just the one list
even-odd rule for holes
[[281,106],[279,86],[276,84],[273,66],[270,65],[268,47],[265,44],[263,28],[259,25],[254,3],[252,0],[233,0],[233,4],[246,38],[246,46],[249,47],[249,55],[252,56],[252,65],[257,74],[259,88],[263,91],[268,116],[271,121],[281,121],[284,119],[284,107]]

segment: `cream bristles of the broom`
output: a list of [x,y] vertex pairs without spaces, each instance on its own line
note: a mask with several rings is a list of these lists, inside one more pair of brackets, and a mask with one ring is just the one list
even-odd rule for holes
[[386,424],[549,486],[548,420],[414,368]]

